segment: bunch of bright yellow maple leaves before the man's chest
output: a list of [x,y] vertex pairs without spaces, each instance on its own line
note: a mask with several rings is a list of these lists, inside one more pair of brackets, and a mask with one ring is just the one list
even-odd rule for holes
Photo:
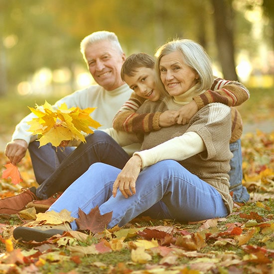
[[98,129],[101,126],[90,116],[96,108],[68,109],[63,103],[58,109],[54,109],[47,101],[42,106],[28,108],[36,115],[27,123],[30,125],[28,131],[38,136],[40,146],[47,143],[60,146],[63,141],[70,140],[86,142],[85,134],[92,134],[91,128]]

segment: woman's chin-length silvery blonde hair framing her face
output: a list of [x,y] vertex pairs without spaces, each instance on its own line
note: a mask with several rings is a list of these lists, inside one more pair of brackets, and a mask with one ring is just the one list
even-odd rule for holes
[[180,51],[184,63],[198,73],[199,88],[197,92],[209,89],[213,82],[212,63],[204,48],[190,39],[175,39],[157,49],[155,53],[155,70],[157,82],[159,82],[158,85],[161,89],[165,90],[160,78],[160,60],[164,55],[175,51]]

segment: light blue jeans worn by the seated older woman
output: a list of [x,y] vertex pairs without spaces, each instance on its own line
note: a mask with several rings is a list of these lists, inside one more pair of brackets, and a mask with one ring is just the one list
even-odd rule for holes
[[[219,192],[174,160],[163,160],[144,168],[137,178],[136,194],[129,198],[120,191],[115,198],[112,196],[112,187],[120,172],[121,169],[104,163],[92,164],[49,211],[67,209],[72,217],[79,218],[79,208],[88,214],[99,206],[101,215],[112,212],[109,228],[125,225],[159,202],[160,214],[179,222],[228,215]],[[76,222],[71,226],[73,230],[78,229]]]

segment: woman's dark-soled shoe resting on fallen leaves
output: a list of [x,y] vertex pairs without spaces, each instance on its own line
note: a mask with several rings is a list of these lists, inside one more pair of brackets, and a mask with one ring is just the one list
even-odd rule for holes
[[13,237],[15,240],[24,242],[43,242],[56,234],[62,235],[63,233],[64,231],[59,229],[38,230],[30,227],[16,227],[13,230]]

